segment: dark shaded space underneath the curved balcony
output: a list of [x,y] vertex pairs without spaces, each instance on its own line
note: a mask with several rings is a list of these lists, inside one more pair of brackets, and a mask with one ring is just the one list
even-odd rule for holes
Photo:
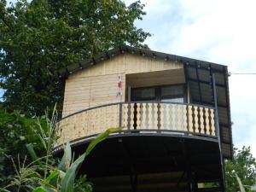
[[[87,146],[75,144],[73,151],[79,155]],[[80,173],[95,191],[189,191],[190,183],[220,182],[219,155],[214,138],[134,132],[97,145]]]

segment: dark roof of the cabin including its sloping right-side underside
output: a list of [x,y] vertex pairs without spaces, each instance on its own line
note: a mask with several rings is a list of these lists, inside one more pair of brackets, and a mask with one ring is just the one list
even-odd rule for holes
[[229,75],[227,66],[178,55],[161,53],[150,49],[140,49],[123,45],[114,49],[109,49],[108,51],[103,52],[100,55],[96,55],[88,60],[80,61],[77,64],[61,68],[57,74],[60,78],[66,79],[72,73],[94,66],[97,63],[111,59],[113,56],[124,54],[125,52],[159,60],[182,63],[185,79],[190,87],[192,102],[212,107],[214,107],[212,85],[212,75],[214,74],[216,79],[218,119],[223,154],[225,158],[232,159],[233,143],[230,119]]

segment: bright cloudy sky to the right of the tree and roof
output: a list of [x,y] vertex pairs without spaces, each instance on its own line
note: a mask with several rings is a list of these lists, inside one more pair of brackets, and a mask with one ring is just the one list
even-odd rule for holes
[[[153,34],[146,40],[150,49],[227,65],[230,73],[256,73],[256,1],[142,3],[147,15],[136,25]],[[251,146],[256,157],[256,75],[232,74],[229,81],[233,143]]]

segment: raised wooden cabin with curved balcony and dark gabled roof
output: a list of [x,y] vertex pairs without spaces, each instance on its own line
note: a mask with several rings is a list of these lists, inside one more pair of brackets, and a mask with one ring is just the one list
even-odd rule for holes
[[124,45],[58,74],[57,151],[68,138],[81,154],[97,134],[124,127],[81,167],[94,191],[224,191],[233,155],[226,66]]

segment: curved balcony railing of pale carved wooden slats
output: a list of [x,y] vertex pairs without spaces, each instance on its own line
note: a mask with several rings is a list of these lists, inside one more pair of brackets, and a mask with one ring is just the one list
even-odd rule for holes
[[73,113],[58,123],[57,146],[67,138],[71,143],[110,127],[124,127],[122,132],[160,132],[187,136],[216,137],[215,109],[171,102],[119,102]]

